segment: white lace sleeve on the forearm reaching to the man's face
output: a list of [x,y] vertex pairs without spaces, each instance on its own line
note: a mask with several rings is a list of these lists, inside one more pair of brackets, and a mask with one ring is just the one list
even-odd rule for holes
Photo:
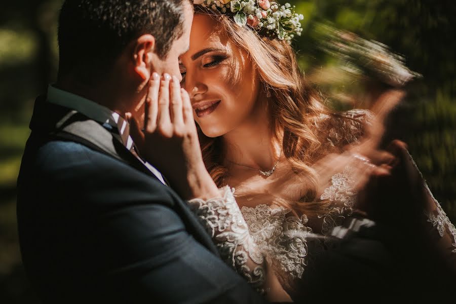
[[222,198],[207,201],[193,199],[188,202],[189,207],[212,237],[222,259],[264,294],[264,257],[250,237],[249,228],[233,196],[234,189],[225,186],[219,190]]

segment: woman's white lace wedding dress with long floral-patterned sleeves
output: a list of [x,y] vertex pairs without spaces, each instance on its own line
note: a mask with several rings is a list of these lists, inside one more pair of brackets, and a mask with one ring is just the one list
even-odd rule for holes
[[[369,113],[352,110],[345,115],[348,120],[321,120],[329,126],[328,148],[355,142],[362,135],[361,124]],[[225,262],[260,292],[268,291],[263,289],[265,273],[273,269],[283,289],[291,294],[294,282],[305,275],[312,259],[333,245],[334,227],[351,217],[356,204],[350,168],[335,174],[321,195],[321,200],[328,200],[330,206],[317,216],[317,229],[310,227],[306,215],[294,216],[291,209],[267,204],[239,208],[234,189],[225,186],[220,192],[220,199],[194,199],[189,206],[212,236]],[[456,254],[456,229],[440,204],[432,199],[435,206],[425,211],[427,220],[441,238],[451,238],[452,253]]]

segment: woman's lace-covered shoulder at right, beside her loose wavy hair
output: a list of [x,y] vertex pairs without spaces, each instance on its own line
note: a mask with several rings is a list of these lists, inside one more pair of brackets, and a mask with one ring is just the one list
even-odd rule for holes
[[343,147],[359,142],[374,115],[366,109],[322,113],[314,119],[314,125],[325,146]]

